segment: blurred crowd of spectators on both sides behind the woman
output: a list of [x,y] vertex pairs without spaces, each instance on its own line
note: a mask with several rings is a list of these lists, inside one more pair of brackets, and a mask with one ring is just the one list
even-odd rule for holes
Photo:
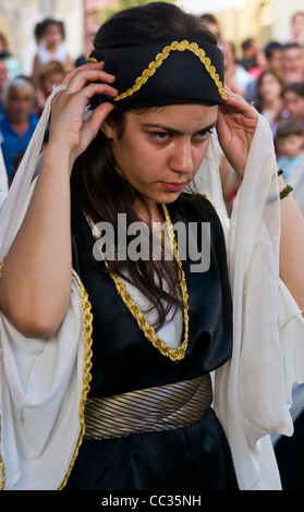
[[[232,41],[221,36],[212,14],[200,16],[215,33],[224,53],[224,80],[229,88],[252,102],[270,125],[278,164],[304,214],[304,11],[290,20],[290,33],[282,40],[260,46],[254,38],[242,41],[236,56]],[[9,183],[38,123],[53,85],[60,85],[68,70],[86,62],[73,61],[66,50],[64,24],[44,20],[35,27],[37,42],[33,70],[23,75],[0,34],[0,143]],[[240,50],[239,50],[240,53]],[[45,143],[47,144],[47,136]],[[228,212],[240,186],[219,148],[221,181]],[[302,193],[303,188],[303,193]]]

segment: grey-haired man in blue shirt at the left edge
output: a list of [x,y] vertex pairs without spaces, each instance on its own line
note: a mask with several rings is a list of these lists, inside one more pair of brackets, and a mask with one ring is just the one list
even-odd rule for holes
[[33,113],[35,87],[31,81],[15,78],[3,92],[4,114],[0,119],[2,153],[8,178],[14,171],[15,156],[24,153],[38,123]]

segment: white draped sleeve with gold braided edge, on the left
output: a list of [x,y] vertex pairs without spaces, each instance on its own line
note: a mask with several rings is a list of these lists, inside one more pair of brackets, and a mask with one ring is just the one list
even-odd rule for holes
[[[1,261],[31,200],[51,100],[61,88],[49,98],[2,205]],[[90,332],[90,305],[75,273],[69,313],[52,338],[25,338],[0,315],[1,489],[46,490],[63,485],[84,434]]]

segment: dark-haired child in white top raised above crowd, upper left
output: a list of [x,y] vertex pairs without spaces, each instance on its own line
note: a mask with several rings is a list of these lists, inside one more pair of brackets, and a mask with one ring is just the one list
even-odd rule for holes
[[35,27],[37,53],[34,58],[32,78],[36,83],[38,73],[44,64],[59,61],[64,65],[65,72],[74,68],[64,42],[65,31],[61,21],[47,19],[37,23]]

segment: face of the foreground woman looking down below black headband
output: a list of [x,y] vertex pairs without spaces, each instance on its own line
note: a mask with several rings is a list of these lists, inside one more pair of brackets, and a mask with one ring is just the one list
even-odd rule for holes
[[173,105],[126,115],[121,138],[101,129],[126,180],[150,203],[175,200],[193,180],[217,123],[218,107]]

